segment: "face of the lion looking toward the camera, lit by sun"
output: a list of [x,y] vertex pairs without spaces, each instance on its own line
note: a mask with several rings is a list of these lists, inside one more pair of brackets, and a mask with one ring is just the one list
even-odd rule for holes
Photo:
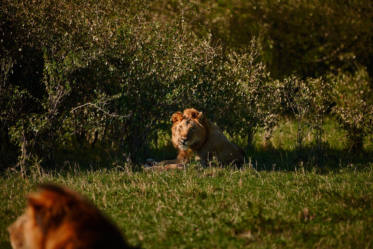
[[202,112],[186,109],[172,116],[172,143],[181,150],[195,148],[206,139]]

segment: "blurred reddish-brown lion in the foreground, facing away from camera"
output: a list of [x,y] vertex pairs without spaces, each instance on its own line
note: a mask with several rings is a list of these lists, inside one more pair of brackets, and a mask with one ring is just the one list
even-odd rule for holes
[[66,187],[41,186],[9,230],[14,249],[130,248],[122,234],[87,199]]

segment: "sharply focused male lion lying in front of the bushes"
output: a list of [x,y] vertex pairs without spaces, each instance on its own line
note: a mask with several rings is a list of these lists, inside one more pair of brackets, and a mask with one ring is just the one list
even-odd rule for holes
[[244,150],[231,143],[217,125],[194,108],[172,115],[172,144],[178,149],[178,157],[173,160],[156,162],[148,159],[145,170],[184,169],[191,159],[196,159],[203,168],[215,158],[219,164],[234,164],[241,167]]

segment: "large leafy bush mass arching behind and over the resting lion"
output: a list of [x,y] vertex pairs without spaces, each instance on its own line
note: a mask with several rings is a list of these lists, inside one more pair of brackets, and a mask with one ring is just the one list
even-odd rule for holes
[[257,46],[211,46],[210,34],[186,29],[185,13],[160,25],[147,22],[147,3],[4,7],[0,28],[12,35],[1,42],[3,166],[18,161],[23,172],[28,162],[49,166],[96,152],[141,161],[154,136],[169,130],[172,112],[191,106],[248,147],[276,124],[278,91],[255,62]]

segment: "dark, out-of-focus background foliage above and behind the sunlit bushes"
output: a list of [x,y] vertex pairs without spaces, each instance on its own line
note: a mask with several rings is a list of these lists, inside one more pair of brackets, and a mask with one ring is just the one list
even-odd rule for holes
[[[241,47],[256,37],[267,71],[274,78],[293,72],[315,77],[339,69],[367,68],[373,75],[373,3],[361,1],[155,1],[150,18],[175,19],[180,10],[201,13],[188,19],[196,32],[208,29],[214,40]],[[187,19],[187,18],[186,18]]]

